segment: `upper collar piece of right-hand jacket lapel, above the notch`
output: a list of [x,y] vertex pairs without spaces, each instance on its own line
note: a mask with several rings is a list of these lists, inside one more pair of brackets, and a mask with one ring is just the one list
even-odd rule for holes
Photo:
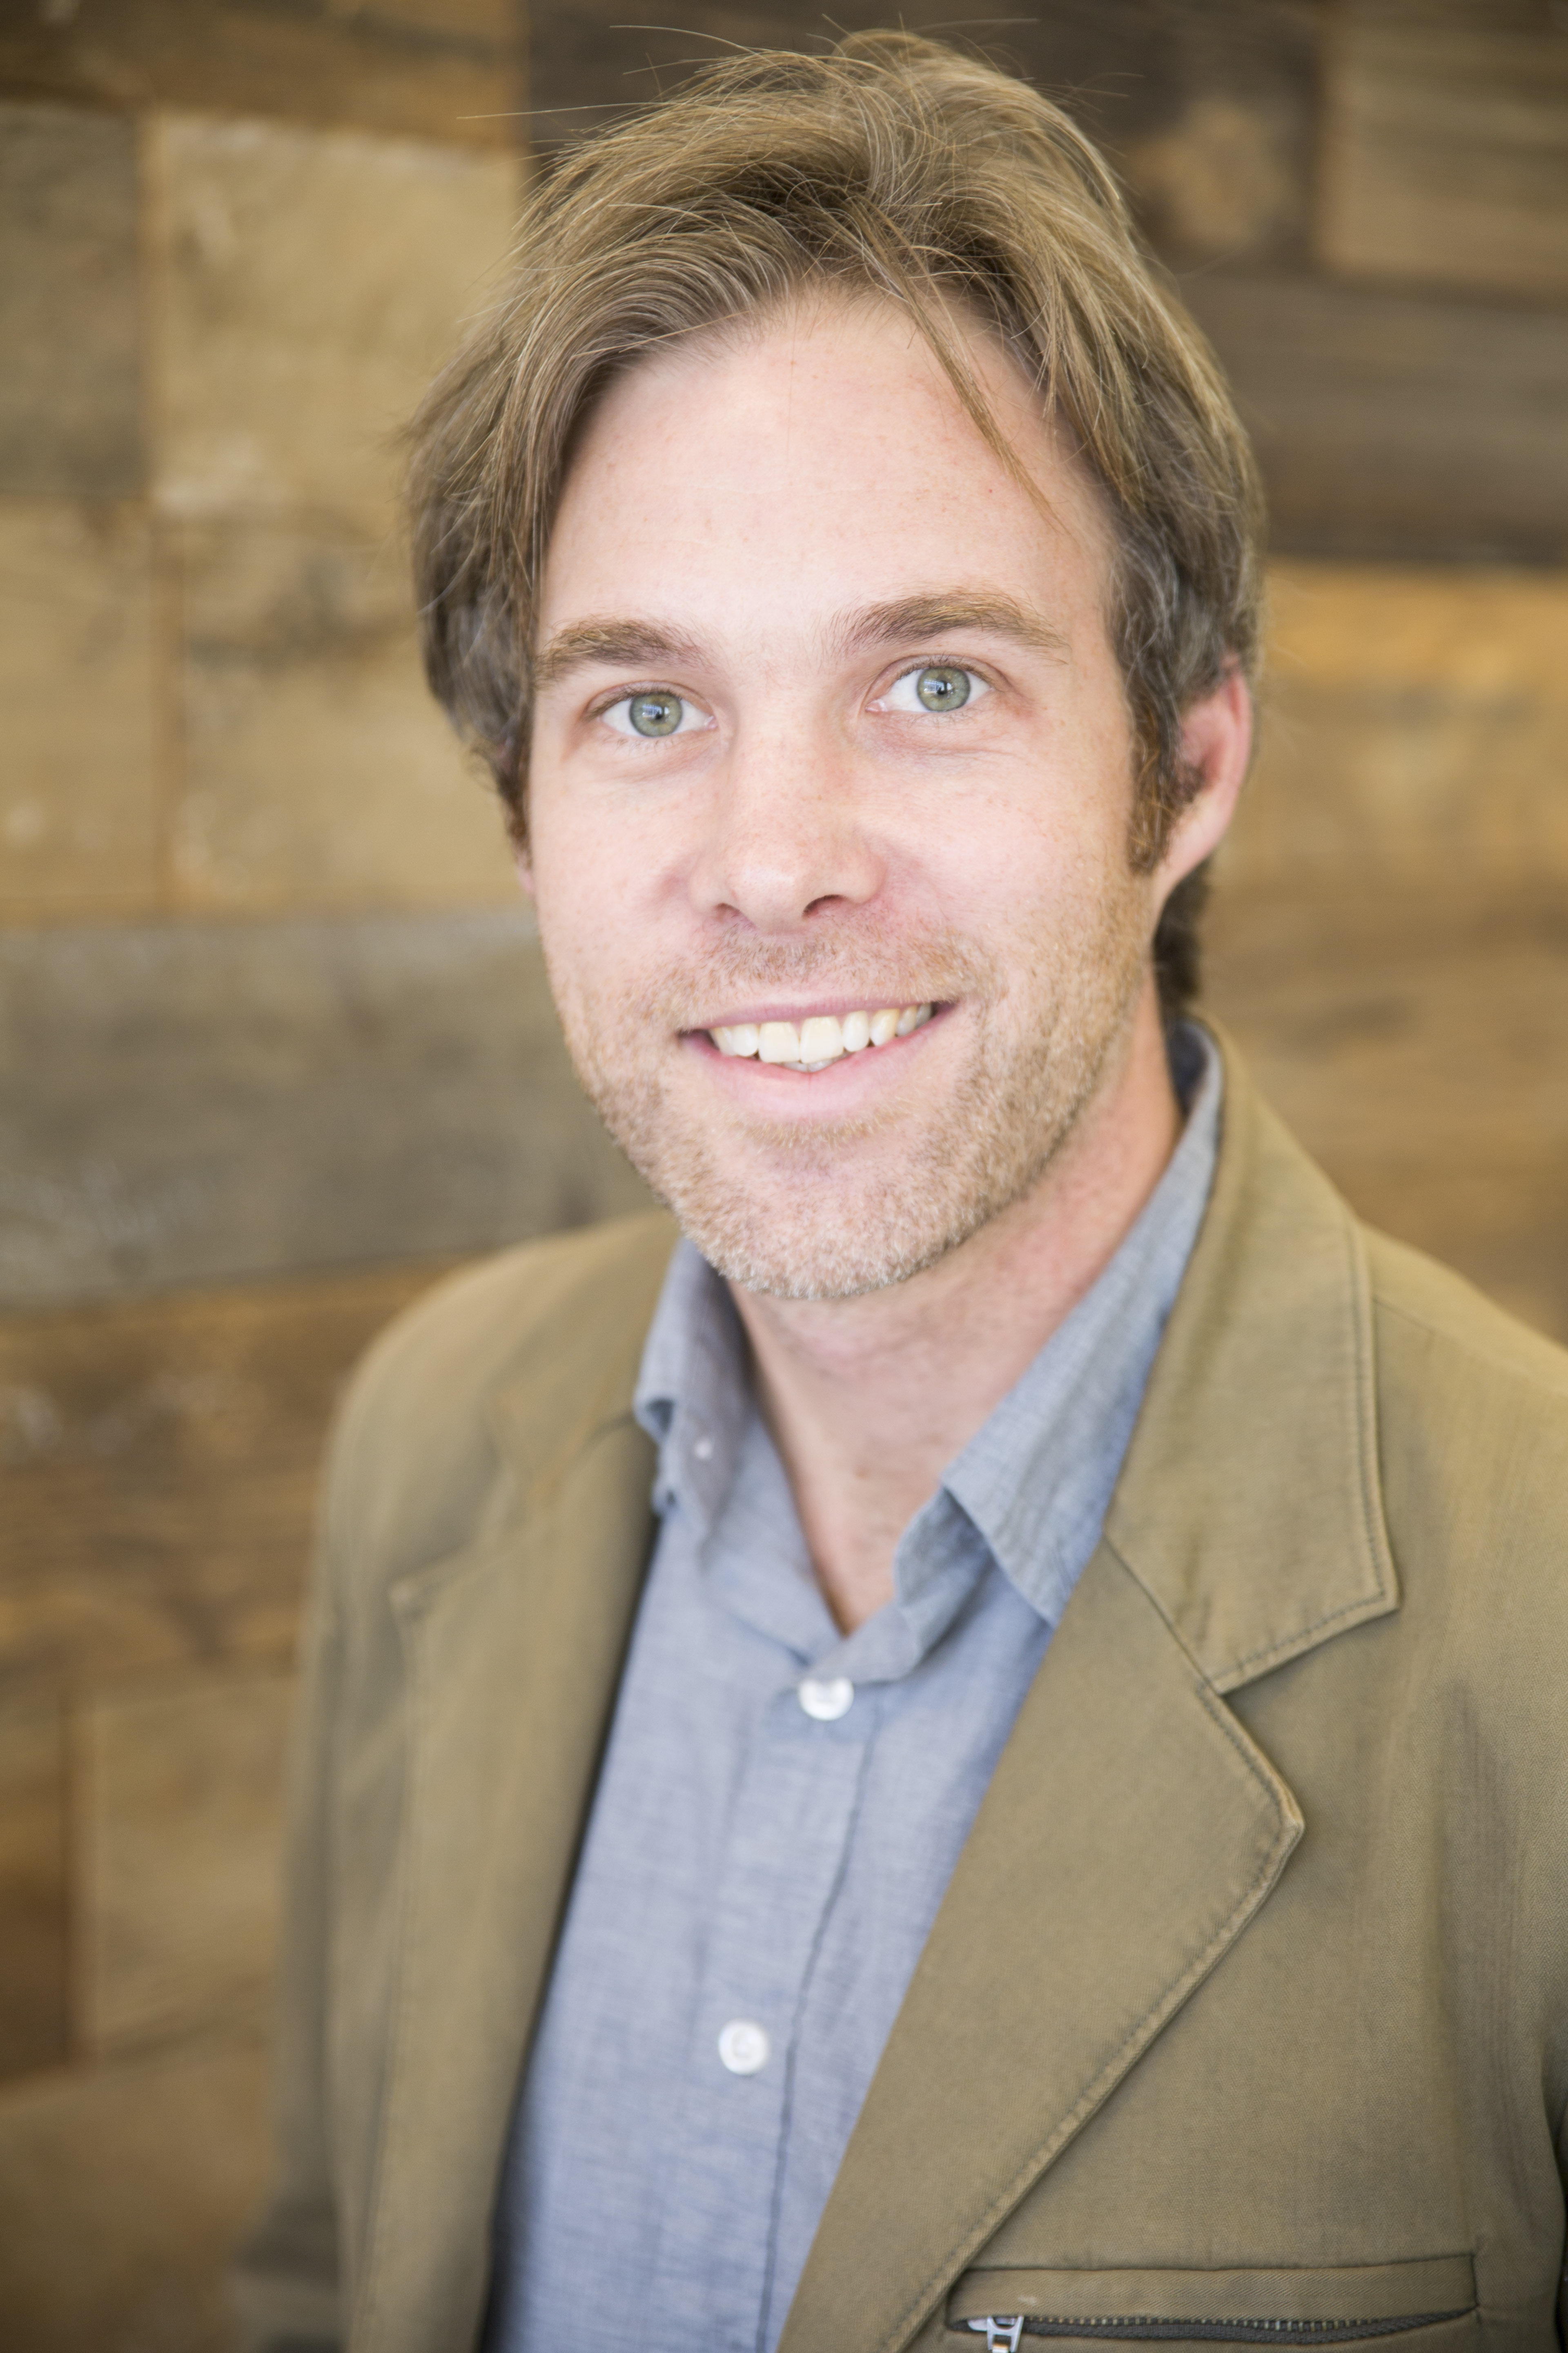
[[1215,1692],[1399,1605],[1356,1224],[1225,1052],[1208,1214],[1105,1539]]

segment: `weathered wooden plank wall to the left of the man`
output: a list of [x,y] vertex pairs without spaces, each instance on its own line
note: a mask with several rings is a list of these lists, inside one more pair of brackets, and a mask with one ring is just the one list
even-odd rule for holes
[[331,1400],[628,1198],[395,525],[522,66],[510,0],[0,12],[7,2353],[228,2341]]

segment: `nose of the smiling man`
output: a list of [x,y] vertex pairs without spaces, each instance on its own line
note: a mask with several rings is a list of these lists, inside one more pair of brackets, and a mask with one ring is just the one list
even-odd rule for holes
[[764,934],[865,906],[886,859],[856,805],[853,762],[827,734],[776,725],[738,732],[712,779],[691,894],[703,915],[741,915]]

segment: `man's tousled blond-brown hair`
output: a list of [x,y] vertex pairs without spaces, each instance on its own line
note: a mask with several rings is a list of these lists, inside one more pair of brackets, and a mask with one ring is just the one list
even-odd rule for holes
[[[569,151],[524,205],[505,299],[414,424],[425,668],[512,826],[534,607],[585,412],[639,355],[809,287],[903,304],[1016,471],[957,327],[983,320],[1100,485],[1140,746],[1131,854],[1152,868],[1192,791],[1182,711],[1258,666],[1253,456],[1095,148],[1025,82],[907,33],[726,59]],[[1178,932],[1199,889],[1157,944],[1168,998],[1192,993]]]

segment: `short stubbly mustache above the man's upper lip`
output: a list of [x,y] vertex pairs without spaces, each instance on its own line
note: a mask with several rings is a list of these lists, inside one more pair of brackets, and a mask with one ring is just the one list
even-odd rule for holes
[[790,993],[851,998],[860,1005],[945,1005],[999,995],[990,958],[954,932],[844,927],[806,939],[717,939],[665,965],[639,993],[637,1014],[661,1028],[705,1028],[729,1005]]

